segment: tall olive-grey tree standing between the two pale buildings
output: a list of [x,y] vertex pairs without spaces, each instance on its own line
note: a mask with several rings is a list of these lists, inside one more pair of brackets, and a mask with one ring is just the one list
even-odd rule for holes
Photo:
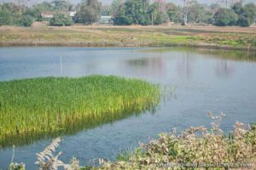
[[91,25],[100,20],[102,3],[98,0],[84,0],[78,14],[78,22]]

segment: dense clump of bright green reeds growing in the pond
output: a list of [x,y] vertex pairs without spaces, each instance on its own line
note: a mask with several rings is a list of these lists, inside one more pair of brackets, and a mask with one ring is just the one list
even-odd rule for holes
[[0,146],[4,139],[55,133],[104,122],[160,103],[160,87],[113,76],[42,77],[0,82]]

